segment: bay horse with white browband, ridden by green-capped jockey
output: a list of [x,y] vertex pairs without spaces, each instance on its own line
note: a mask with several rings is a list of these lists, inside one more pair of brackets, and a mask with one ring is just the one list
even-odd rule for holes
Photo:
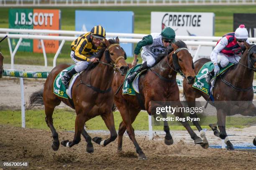
[[[192,56],[187,50],[187,45],[182,41],[172,43],[177,58],[177,64],[180,70],[186,75],[188,83],[194,82],[195,72],[192,68]],[[152,102],[154,101],[177,101],[178,106],[182,106],[179,102],[179,88],[176,82],[177,71],[174,69],[174,62],[172,51],[169,55],[165,55],[154,67],[151,67],[145,74],[141,75],[139,80],[139,92],[141,95],[141,101],[137,100],[134,95],[123,95],[122,90],[118,91],[115,95],[115,105],[117,106],[123,121],[119,125],[118,129],[118,152],[122,151],[123,134],[126,132],[129,138],[135,145],[136,152],[138,153],[138,159],[146,159],[146,155],[138,145],[132,123],[136,119],[136,116],[141,110],[146,110],[149,115],[152,114],[151,109],[154,109]],[[129,65],[131,67],[131,65]],[[122,82],[125,76],[121,76],[116,73],[113,80],[113,91],[115,92],[118,87],[122,87]],[[142,105],[140,104],[142,103]],[[182,112],[175,112],[175,116],[184,117]],[[166,113],[163,115],[166,117]],[[195,144],[202,144],[202,139],[199,138],[195,132],[191,129],[188,122],[181,122],[187,129],[189,135]],[[170,134],[169,126],[167,122],[164,122],[164,131],[166,133],[164,143],[166,145],[172,145],[173,139]]]

